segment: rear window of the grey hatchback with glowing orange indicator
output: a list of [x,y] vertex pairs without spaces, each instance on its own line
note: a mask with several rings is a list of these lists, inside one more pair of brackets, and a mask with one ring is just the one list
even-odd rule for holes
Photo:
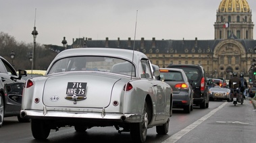
[[183,81],[182,73],[177,72],[177,71],[169,70],[169,72],[166,72],[166,73],[161,72],[160,77],[164,81]]

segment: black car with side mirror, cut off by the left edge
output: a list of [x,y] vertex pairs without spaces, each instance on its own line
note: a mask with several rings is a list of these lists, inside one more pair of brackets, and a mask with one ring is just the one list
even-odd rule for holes
[[22,90],[26,76],[25,70],[19,70],[18,74],[5,58],[0,56],[0,127],[3,126],[3,117],[17,116],[19,122],[28,122],[20,117],[22,104]]

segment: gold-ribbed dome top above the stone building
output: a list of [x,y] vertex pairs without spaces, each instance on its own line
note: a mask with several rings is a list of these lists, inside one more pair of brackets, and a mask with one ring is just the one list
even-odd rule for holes
[[218,9],[219,12],[243,12],[249,13],[250,7],[246,0],[222,0]]

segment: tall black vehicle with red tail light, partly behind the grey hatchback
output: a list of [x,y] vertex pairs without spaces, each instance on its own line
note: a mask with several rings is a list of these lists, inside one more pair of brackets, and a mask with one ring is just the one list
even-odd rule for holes
[[194,90],[193,103],[200,108],[209,107],[209,89],[203,66],[195,64],[170,64],[168,68],[181,68],[186,73],[188,81]]

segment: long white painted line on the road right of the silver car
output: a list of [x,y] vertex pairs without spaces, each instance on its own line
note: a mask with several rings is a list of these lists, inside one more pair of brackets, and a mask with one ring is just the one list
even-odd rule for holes
[[204,122],[209,117],[211,117],[211,115],[213,115],[216,111],[218,111],[219,109],[222,109],[222,107],[224,107],[227,103],[228,102],[224,102],[222,105],[220,105],[216,109],[211,110],[207,115],[201,117],[199,120],[197,120],[193,124],[190,124],[186,128],[180,130],[180,132],[177,132],[176,134],[170,136],[170,138],[164,140],[162,143],[174,143],[174,142],[177,142],[178,140],[180,140],[180,138],[182,138],[182,136],[184,136],[186,133],[190,132],[191,130],[193,130],[197,126],[199,126],[202,122]]

